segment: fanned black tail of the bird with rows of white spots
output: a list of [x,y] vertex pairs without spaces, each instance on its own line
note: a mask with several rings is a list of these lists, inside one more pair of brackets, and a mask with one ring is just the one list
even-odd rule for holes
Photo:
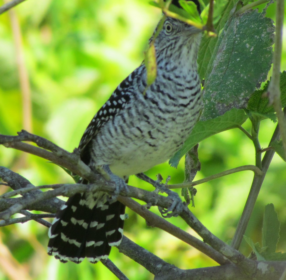
[[106,260],[123,235],[125,206],[109,202],[106,193],[70,197],[49,228],[48,254],[62,263]]

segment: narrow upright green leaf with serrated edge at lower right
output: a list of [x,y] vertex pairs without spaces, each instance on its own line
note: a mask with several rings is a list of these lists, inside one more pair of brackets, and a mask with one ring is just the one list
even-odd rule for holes
[[275,253],[279,240],[280,222],[272,203],[265,206],[262,227],[262,246],[267,247],[265,253]]

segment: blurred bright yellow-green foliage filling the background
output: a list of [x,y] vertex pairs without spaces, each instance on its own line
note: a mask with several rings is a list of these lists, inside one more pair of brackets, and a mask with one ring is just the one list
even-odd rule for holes
[[[3,4],[0,2],[0,4]],[[265,5],[264,5],[265,6]],[[261,8],[260,8],[261,9]],[[160,18],[160,11],[144,0],[27,0],[16,14],[21,26],[25,65],[29,74],[32,126],[35,134],[72,151],[97,110],[116,86],[143,60],[148,38]],[[275,4],[267,13],[274,18]],[[282,70],[286,69],[283,50]],[[15,43],[9,13],[0,15],[0,133],[15,135],[23,128],[22,95],[19,87]],[[247,121],[243,127],[250,130]],[[259,132],[267,147],[275,124],[263,120]],[[200,143],[201,171],[195,180],[244,164],[255,164],[252,142],[238,129],[207,138]],[[35,156],[0,146],[0,164],[29,179],[33,184],[72,182],[61,168]],[[155,178],[171,175],[170,184],[183,182],[184,164],[155,166],[146,174]],[[212,233],[223,241],[233,237],[252,181],[250,171],[197,186],[196,208],[192,211]],[[130,184],[152,190],[132,176]],[[278,250],[286,246],[286,171],[275,155],[259,194],[246,235],[261,240],[264,206],[273,203],[281,222]],[[1,186],[1,193],[7,191]],[[156,208],[152,208],[158,213]],[[169,234],[146,226],[144,219],[127,210],[124,234],[182,269],[215,265],[196,249]],[[170,222],[196,234],[180,218]],[[115,279],[101,263],[62,264],[46,254],[47,228],[36,222],[1,228],[0,245],[7,246],[11,260],[1,253],[0,279],[16,279],[5,269],[10,260],[17,279]],[[245,241],[241,251],[251,248]],[[9,251],[7,254],[9,255]],[[130,279],[152,279],[143,267],[112,249],[110,259]],[[18,268],[19,270],[17,270]],[[21,270],[22,269],[22,270]],[[22,277],[21,277],[22,276]]]

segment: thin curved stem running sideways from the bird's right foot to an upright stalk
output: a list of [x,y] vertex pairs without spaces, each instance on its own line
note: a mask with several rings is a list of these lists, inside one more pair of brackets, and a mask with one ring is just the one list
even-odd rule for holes
[[182,183],[182,184],[167,185],[167,187],[170,188],[170,189],[173,189],[173,188],[190,188],[192,186],[203,184],[203,183],[206,183],[208,181],[211,181],[211,180],[214,180],[214,179],[217,179],[217,178],[221,178],[223,176],[227,176],[229,174],[233,174],[233,173],[241,172],[241,171],[246,171],[246,170],[253,171],[254,174],[257,174],[259,176],[262,175],[262,171],[257,166],[255,166],[255,165],[243,165],[243,166],[239,166],[239,167],[236,167],[236,168],[232,168],[232,169],[223,171],[223,172],[215,174],[215,175],[211,175],[211,176],[209,176],[207,178],[203,178],[203,179],[200,179],[200,180],[197,180],[197,181],[188,182],[188,183]]

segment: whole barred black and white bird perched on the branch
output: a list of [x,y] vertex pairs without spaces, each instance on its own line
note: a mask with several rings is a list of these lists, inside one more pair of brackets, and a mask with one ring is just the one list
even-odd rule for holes
[[[147,87],[142,63],[97,112],[79,144],[88,166],[120,183],[117,179],[144,172],[180,149],[202,109],[199,33],[177,19],[164,19],[154,42],[156,80]],[[104,192],[74,195],[49,229],[48,254],[61,262],[107,259],[111,246],[121,242],[124,212],[125,206]]]

